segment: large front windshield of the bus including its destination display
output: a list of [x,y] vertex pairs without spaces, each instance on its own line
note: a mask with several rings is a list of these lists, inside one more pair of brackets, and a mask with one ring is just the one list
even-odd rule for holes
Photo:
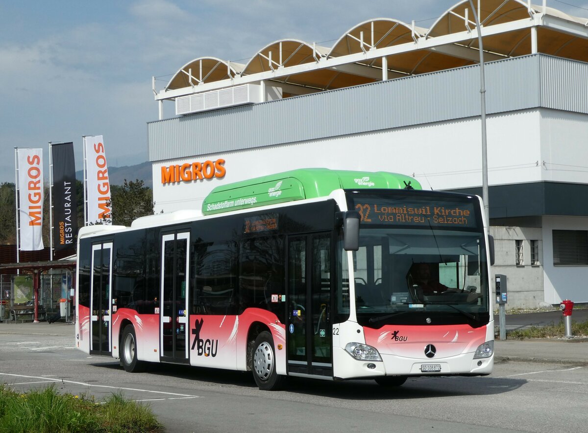
[[476,197],[356,192],[350,205],[361,218],[360,247],[347,264],[360,324],[489,322],[486,244]]

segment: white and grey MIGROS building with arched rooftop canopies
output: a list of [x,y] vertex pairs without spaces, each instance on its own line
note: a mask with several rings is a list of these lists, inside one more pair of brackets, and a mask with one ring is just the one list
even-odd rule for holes
[[[509,307],[588,302],[588,27],[516,0],[480,5],[492,272],[507,275]],[[148,124],[155,212],[199,209],[222,183],[302,167],[400,172],[481,195],[467,7],[430,29],[378,19],[330,49],[280,40],[248,65],[186,64]],[[164,101],[175,117],[163,119]]]

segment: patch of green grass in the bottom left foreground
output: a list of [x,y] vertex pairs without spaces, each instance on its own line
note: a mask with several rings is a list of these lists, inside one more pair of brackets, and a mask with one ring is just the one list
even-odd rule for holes
[[0,433],[160,432],[151,409],[122,393],[102,402],[59,394],[55,386],[18,393],[0,385]]

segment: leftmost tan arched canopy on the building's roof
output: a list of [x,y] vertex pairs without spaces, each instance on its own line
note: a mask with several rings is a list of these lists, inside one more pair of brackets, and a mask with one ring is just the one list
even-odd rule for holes
[[225,80],[240,74],[242,70],[243,65],[240,63],[226,62],[216,57],[198,57],[182,66],[169,80],[165,90]]

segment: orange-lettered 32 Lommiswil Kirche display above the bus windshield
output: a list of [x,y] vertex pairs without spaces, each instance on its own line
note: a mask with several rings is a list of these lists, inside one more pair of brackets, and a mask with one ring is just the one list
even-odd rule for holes
[[355,210],[363,224],[476,227],[474,206],[468,202],[398,202],[356,199]]

